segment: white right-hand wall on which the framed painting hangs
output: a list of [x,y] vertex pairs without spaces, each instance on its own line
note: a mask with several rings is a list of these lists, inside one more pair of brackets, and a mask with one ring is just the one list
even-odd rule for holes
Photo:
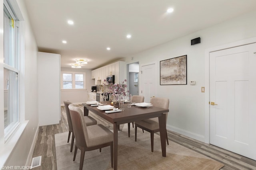
[[[140,66],[156,61],[156,90],[158,97],[170,99],[167,129],[204,141],[204,57],[210,47],[239,41],[256,36],[256,11],[228,20],[213,27],[203,29],[174,41],[159,45],[136,55],[126,57],[126,63],[139,61]],[[190,40],[201,37],[201,43],[190,45]],[[195,80],[196,85],[160,86],[160,61],[187,56],[187,82]],[[139,76],[140,78],[141,76]]]

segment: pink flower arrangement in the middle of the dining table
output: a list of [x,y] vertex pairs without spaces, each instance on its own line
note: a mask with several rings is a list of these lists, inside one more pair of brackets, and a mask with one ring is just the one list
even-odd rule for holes
[[109,92],[113,94],[113,96],[118,97],[120,95],[124,95],[126,96],[126,93],[129,92],[129,90],[126,91],[127,85],[124,84],[125,82],[127,82],[126,79],[124,79],[124,81],[122,82],[122,84],[109,84],[108,82],[106,82],[106,80],[104,80],[104,85],[110,85],[109,87]]

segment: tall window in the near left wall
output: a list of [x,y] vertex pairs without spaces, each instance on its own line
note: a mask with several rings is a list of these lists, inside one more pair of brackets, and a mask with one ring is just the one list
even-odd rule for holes
[[4,137],[19,124],[19,20],[4,0]]

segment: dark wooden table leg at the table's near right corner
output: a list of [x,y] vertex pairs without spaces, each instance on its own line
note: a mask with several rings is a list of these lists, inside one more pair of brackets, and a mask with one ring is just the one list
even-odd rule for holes
[[166,157],[166,114],[162,114],[162,116],[158,117],[158,122],[160,129],[162,156]]

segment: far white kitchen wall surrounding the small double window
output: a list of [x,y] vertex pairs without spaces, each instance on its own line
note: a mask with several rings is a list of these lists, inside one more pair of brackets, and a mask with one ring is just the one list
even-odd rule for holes
[[67,68],[61,67],[61,71],[65,72],[85,72],[86,77],[86,90],[61,90],[61,106],[64,106],[63,101],[69,100],[72,103],[80,104],[87,102],[87,91],[91,91],[91,86],[94,85],[94,79],[92,79],[92,70],[83,68]]

